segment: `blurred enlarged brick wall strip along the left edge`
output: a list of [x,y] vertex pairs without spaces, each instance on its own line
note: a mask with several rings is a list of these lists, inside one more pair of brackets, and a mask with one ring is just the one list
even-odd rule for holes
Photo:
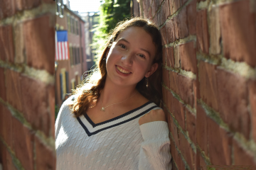
[[0,1],[0,166],[55,169],[55,1]]

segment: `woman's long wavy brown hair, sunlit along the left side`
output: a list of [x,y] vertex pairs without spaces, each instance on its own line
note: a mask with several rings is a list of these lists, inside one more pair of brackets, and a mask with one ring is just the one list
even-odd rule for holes
[[154,57],[153,63],[158,63],[159,67],[156,71],[148,78],[149,87],[146,88],[145,77],[139,81],[136,86],[137,91],[142,94],[144,97],[148,98],[149,101],[153,101],[156,105],[160,105],[161,102],[161,64],[162,64],[162,46],[161,46],[161,33],[154,23],[144,18],[132,18],[127,21],[122,21],[117,24],[116,28],[110,34],[107,45],[102,52],[100,57],[100,61],[97,64],[97,69],[95,69],[92,74],[90,74],[85,82],[80,85],[73,94],[77,95],[75,97],[73,104],[70,105],[70,109],[72,113],[74,113],[75,117],[78,117],[84,113],[87,108],[93,107],[92,101],[97,101],[100,97],[100,91],[105,86],[105,80],[107,77],[107,69],[106,69],[106,54],[107,50],[110,50],[112,42],[117,39],[117,36],[122,33],[122,31],[126,30],[129,27],[140,27],[143,28],[146,33],[151,35],[151,38],[156,46],[156,55]]

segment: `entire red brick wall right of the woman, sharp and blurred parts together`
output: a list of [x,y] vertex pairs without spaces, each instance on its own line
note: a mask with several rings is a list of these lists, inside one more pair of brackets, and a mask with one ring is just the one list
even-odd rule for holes
[[137,4],[163,37],[163,108],[173,169],[256,166],[255,1]]

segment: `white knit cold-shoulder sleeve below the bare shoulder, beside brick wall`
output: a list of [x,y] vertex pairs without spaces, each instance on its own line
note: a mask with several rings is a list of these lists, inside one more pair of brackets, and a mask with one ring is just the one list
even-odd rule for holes
[[139,126],[144,142],[139,152],[139,170],[171,170],[169,128],[165,121]]

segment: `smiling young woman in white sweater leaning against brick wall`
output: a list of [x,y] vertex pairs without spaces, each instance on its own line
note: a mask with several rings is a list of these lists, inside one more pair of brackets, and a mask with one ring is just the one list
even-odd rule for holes
[[60,108],[57,169],[171,169],[161,101],[161,34],[132,18],[110,36],[99,72]]

